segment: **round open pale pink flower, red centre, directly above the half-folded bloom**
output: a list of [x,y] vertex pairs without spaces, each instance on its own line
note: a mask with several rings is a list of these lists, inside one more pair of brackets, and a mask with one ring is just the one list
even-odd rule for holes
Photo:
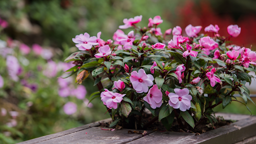
[[130,82],[137,93],[147,92],[148,86],[153,85],[154,77],[151,74],[146,74],[144,69],[132,71]]

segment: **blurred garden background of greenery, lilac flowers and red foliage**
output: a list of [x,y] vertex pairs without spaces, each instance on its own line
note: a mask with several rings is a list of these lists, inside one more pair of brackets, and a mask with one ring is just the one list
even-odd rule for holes
[[[162,32],[192,24],[201,25],[202,33],[205,26],[218,24],[219,34],[227,36],[226,27],[238,24],[241,33],[232,43],[256,50],[255,0],[0,0],[0,143],[108,118],[99,98],[88,103],[97,91],[90,77],[82,85],[74,77],[59,78],[73,65],[62,61],[78,50],[73,47],[75,35],[101,31],[106,40],[123,18],[136,15],[143,16],[139,26],[160,15]],[[255,84],[249,86],[251,93],[256,93]],[[255,115],[255,106],[250,101],[247,105]],[[250,114],[236,102],[214,110]]]

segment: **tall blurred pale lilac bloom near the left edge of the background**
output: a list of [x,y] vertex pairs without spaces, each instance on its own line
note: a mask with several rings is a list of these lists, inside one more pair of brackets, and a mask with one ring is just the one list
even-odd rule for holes
[[18,72],[20,65],[18,63],[18,59],[15,56],[7,55],[6,57],[6,66],[8,69],[9,76],[14,80],[18,80]]

